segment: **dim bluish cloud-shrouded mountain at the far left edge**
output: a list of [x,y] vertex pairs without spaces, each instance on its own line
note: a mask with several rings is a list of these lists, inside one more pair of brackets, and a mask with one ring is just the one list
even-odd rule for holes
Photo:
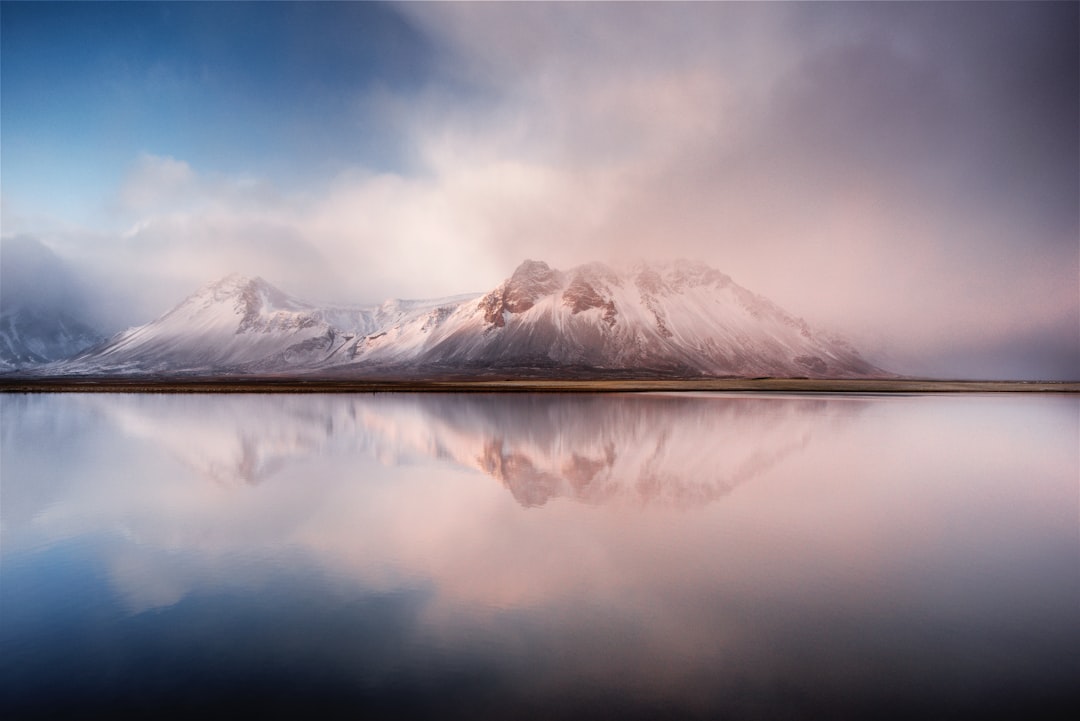
[[85,293],[52,250],[28,237],[0,244],[0,370],[70,357],[103,334],[84,312]]

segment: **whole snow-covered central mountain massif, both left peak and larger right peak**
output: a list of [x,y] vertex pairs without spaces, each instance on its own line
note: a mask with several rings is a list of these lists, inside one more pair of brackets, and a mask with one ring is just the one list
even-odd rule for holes
[[881,375],[700,262],[523,262],[483,296],[320,308],[261,278],[204,286],[59,372]]

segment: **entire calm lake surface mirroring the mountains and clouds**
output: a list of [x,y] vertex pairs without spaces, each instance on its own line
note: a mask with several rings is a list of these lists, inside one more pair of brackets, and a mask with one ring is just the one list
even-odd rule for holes
[[1075,396],[0,413],[3,718],[1080,708]]

